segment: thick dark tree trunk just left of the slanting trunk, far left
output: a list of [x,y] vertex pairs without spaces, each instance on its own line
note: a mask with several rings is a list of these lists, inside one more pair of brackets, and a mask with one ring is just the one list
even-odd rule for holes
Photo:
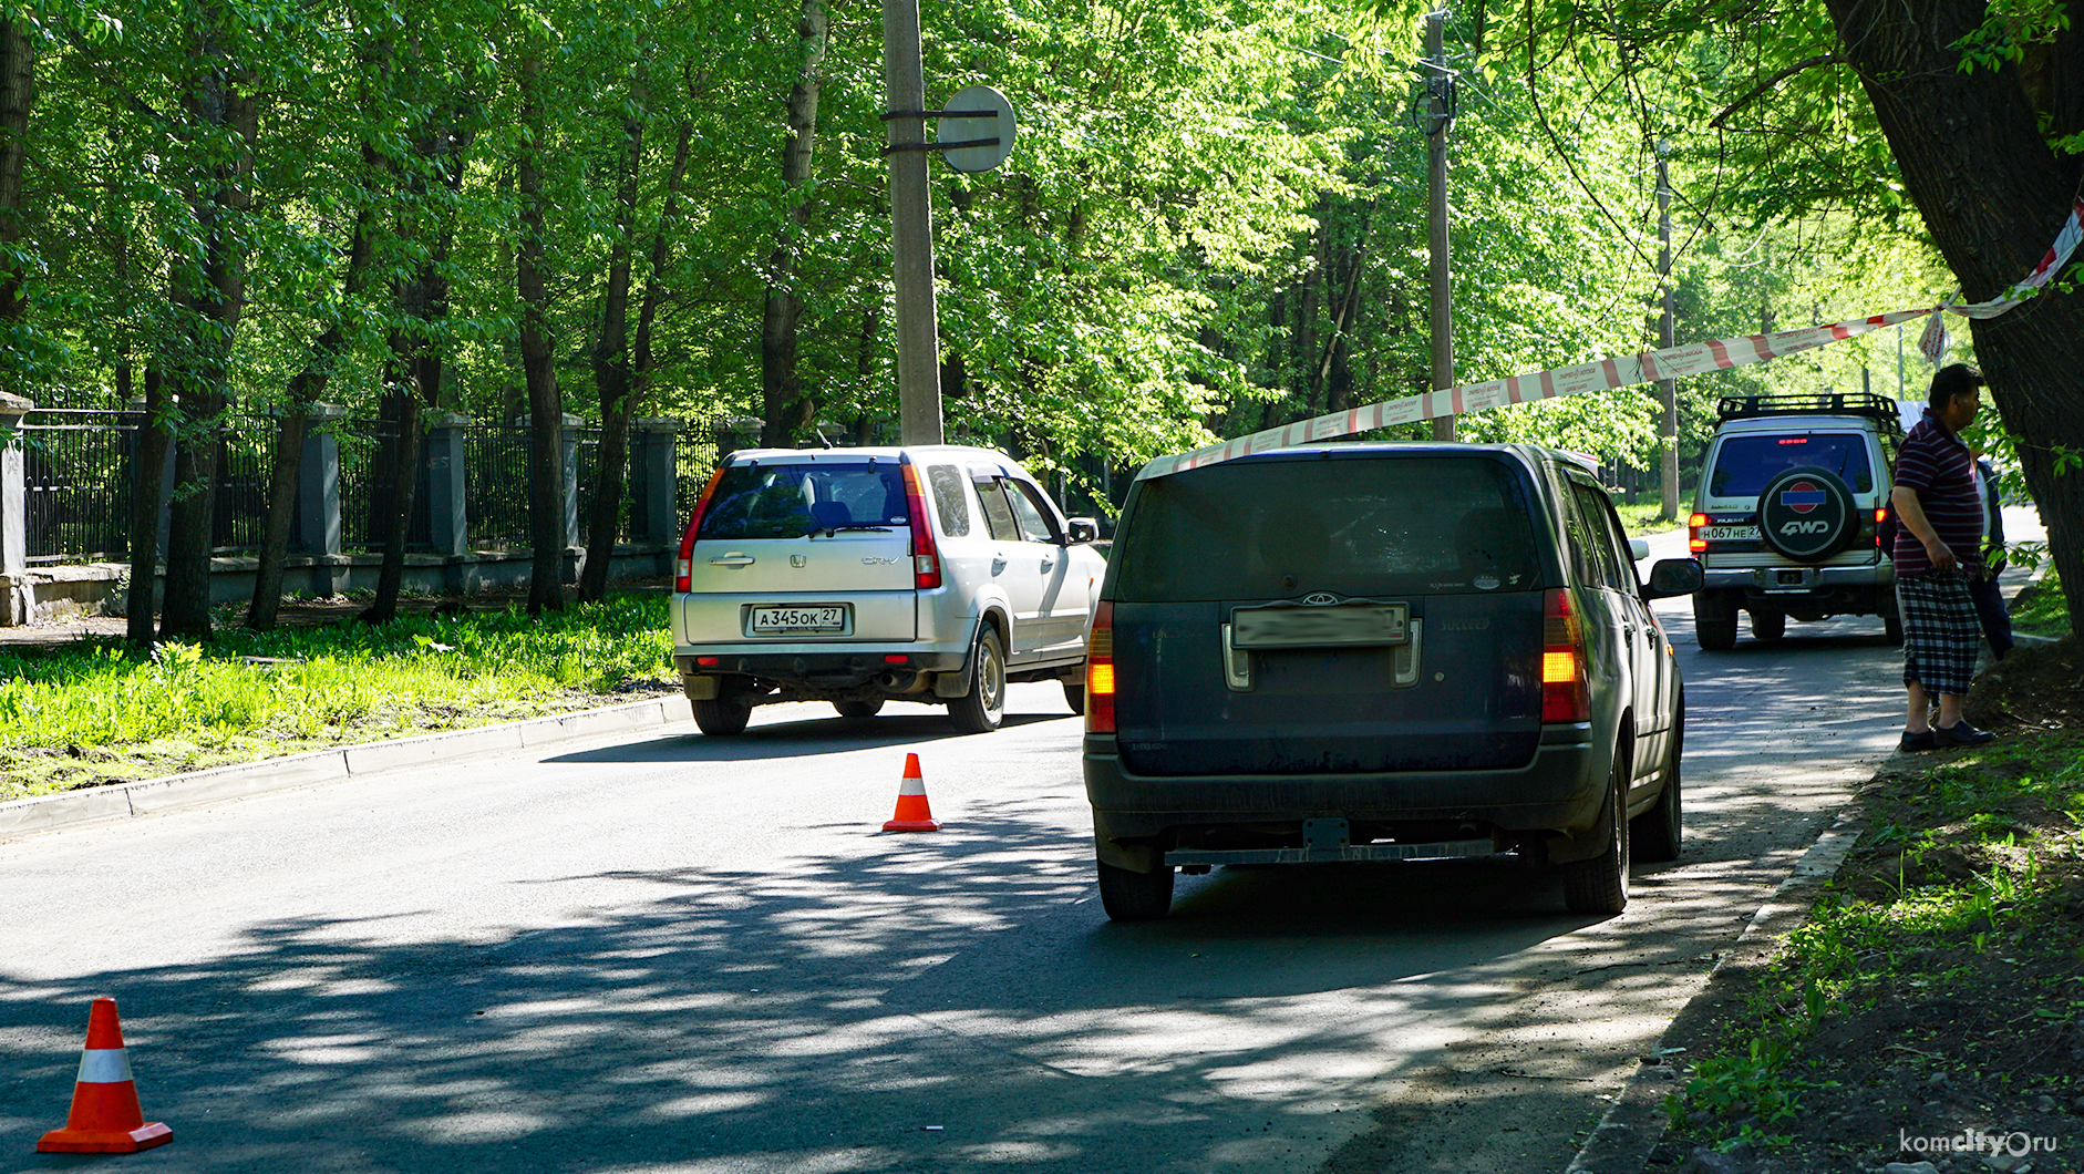
[[[250,71],[227,67],[215,21],[202,13],[196,46],[196,75],[183,96],[190,127],[215,163],[206,190],[194,192],[190,209],[202,248],[200,265],[181,265],[188,292],[177,298],[185,311],[188,357],[169,365],[179,373],[177,396],[188,419],[175,453],[173,528],[167,538],[167,601],[158,630],[165,638],[206,640],[210,636],[210,548],[217,519],[217,459],[223,446],[225,377],[231,338],[246,304],[246,234],[238,221],[252,202],[254,136],[258,102]],[[200,271],[198,271],[200,269]]]

